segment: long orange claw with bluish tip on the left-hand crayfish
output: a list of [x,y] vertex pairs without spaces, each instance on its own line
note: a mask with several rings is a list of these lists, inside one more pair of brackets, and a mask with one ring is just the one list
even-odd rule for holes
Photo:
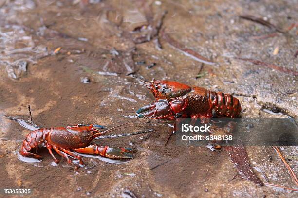
[[85,154],[98,154],[102,157],[107,157],[107,158],[112,158],[112,159],[133,158],[133,155],[130,154],[130,152],[133,152],[133,150],[131,148],[90,145],[85,148],[74,149],[74,151],[76,151],[78,153],[85,153]]

